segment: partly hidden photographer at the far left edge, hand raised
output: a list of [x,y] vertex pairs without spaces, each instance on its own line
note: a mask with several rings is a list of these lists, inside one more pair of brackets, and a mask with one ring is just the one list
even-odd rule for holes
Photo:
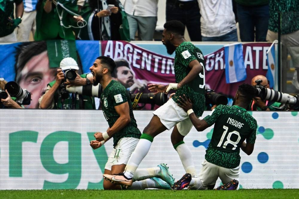
[[0,78],[0,108],[24,108],[15,102],[16,98],[10,97],[10,94],[4,89],[6,83],[7,82],[3,78]]

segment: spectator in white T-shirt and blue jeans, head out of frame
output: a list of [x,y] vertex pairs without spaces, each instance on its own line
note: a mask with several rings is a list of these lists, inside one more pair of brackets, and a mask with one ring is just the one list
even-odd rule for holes
[[202,41],[237,42],[237,26],[231,0],[199,0]]

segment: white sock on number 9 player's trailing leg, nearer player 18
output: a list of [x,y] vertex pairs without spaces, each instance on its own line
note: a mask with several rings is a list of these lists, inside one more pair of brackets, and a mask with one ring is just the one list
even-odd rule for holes
[[184,166],[186,173],[190,173],[192,177],[197,177],[195,166],[192,160],[191,151],[188,148],[188,146],[185,143],[180,144],[176,148],[176,151],[179,154],[179,157],[181,159],[181,162]]

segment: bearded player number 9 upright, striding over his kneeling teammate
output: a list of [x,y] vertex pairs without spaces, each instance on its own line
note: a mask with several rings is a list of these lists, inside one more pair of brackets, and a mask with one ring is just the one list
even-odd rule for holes
[[167,48],[167,53],[172,54],[176,51],[174,60],[176,83],[148,85],[149,90],[155,93],[168,93],[168,91],[174,89],[177,90],[176,94],[153,112],[154,116],[144,128],[140,141],[127,163],[125,172],[118,175],[104,174],[104,178],[125,186],[131,186],[135,171],[148,153],[154,137],[173,127],[171,134],[173,147],[178,152],[185,171],[196,177],[190,149],[183,141],[192,128],[192,123],[188,117],[190,112],[186,113],[176,103],[179,96],[186,94],[193,102],[193,111],[196,116],[200,117],[202,115],[205,108],[205,61],[201,50],[186,41],[184,31],[184,24],[173,20],[164,24],[162,33],[162,42]]

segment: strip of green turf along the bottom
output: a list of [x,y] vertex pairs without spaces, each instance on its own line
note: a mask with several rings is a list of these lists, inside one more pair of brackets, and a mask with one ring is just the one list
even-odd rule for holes
[[114,199],[147,199],[147,198],[223,198],[223,199],[248,199],[248,198],[298,198],[299,189],[241,189],[239,191],[196,191],[196,190],[0,190],[0,198],[114,198]]

